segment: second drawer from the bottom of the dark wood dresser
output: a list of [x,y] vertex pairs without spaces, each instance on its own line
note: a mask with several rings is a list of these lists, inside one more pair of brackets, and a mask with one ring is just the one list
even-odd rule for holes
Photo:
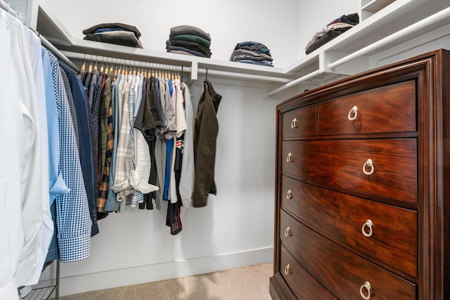
[[[281,209],[281,224],[285,218],[292,217]],[[339,299],[361,299],[360,292],[368,296],[368,285],[371,299],[416,299],[414,283],[362,259],[300,222],[293,221],[290,226],[295,238],[282,239],[281,244]]]

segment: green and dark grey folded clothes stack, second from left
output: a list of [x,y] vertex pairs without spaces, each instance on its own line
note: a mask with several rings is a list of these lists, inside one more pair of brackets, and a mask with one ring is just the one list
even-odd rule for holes
[[211,37],[209,33],[190,25],[170,28],[166,41],[167,52],[210,58]]

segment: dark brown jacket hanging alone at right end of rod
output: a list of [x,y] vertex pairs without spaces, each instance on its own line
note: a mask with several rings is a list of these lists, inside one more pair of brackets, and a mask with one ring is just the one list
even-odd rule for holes
[[208,194],[217,195],[214,183],[216,140],[219,133],[217,110],[222,98],[205,79],[204,91],[197,107],[194,131],[195,182],[192,193],[193,207],[205,207]]

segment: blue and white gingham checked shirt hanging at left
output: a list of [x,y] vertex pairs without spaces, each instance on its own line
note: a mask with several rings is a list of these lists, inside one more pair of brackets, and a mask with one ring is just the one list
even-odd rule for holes
[[[82,177],[81,164],[72,116],[65,93],[58,59],[49,52],[53,74],[53,87],[58,107],[60,132],[60,170],[70,192],[56,197],[56,223],[58,228],[58,254],[62,262],[78,261],[89,257],[91,245],[91,218]],[[51,252],[51,250],[49,250]]]

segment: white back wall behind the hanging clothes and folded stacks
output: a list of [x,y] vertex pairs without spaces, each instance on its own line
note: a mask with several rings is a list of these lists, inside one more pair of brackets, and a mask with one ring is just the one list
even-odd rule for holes
[[[297,1],[57,1],[46,0],[73,37],[102,22],[135,25],[145,48],[165,51],[169,28],[187,24],[210,32],[213,58],[229,60],[239,41],[271,48],[277,67],[297,56]],[[125,8],[125,6],[131,8]],[[47,6],[46,6],[47,7]],[[275,116],[280,100],[264,84],[209,77],[223,98],[215,178],[207,207],[181,208],[183,230],[170,235],[162,211],[127,208],[99,221],[91,256],[61,264],[60,294],[248,266],[273,259]],[[203,92],[192,86],[195,107]],[[54,266],[42,279],[52,278]],[[267,281],[269,284],[269,279]]]

